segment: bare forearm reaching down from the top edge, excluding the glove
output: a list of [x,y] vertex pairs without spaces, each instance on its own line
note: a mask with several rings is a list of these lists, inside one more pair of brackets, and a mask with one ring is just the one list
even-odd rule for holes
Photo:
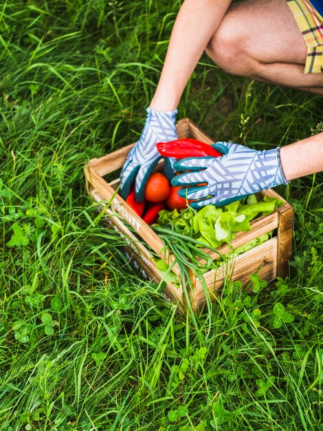
[[170,36],[159,83],[150,107],[176,109],[183,90],[231,0],[185,0]]

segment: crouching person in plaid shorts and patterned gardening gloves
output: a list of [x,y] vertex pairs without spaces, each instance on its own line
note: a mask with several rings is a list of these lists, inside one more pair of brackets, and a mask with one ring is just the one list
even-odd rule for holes
[[[230,74],[323,94],[323,0],[184,0],[144,129],[122,167],[123,198],[134,184],[137,200],[144,199],[160,159],[155,144],[177,138],[177,105],[204,51]],[[165,160],[166,176],[183,186],[179,194],[192,207],[221,206],[323,170],[323,133],[265,151],[216,146],[219,158]]]

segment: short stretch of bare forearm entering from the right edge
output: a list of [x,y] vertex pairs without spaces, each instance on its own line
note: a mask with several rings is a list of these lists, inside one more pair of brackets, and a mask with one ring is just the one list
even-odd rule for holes
[[323,133],[282,147],[280,162],[287,181],[323,171]]

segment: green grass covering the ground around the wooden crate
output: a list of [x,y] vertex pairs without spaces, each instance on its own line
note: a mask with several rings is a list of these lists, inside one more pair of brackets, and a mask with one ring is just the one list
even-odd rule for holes
[[[322,174],[296,210],[287,280],[177,313],[139,279],[82,167],[134,142],[179,2],[0,6],[0,430],[322,430]],[[203,56],[179,106],[214,139],[322,130],[322,98]],[[274,328],[275,304],[293,322]],[[277,306],[276,306],[277,307]]]

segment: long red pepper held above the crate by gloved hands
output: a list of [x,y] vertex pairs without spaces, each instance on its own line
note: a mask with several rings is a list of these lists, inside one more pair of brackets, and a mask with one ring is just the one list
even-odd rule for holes
[[156,148],[164,157],[186,158],[186,157],[220,157],[220,154],[212,145],[201,142],[201,140],[180,138],[168,143],[157,143]]

